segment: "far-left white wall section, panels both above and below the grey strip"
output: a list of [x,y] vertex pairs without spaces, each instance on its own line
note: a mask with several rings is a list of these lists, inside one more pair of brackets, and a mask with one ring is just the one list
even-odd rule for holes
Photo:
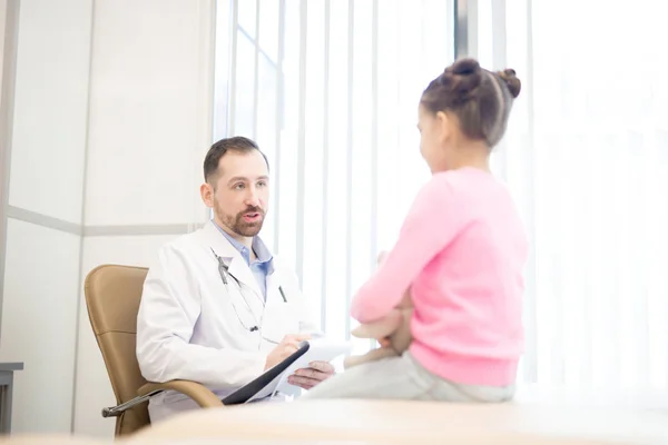
[[[9,205],[81,221],[91,0],[21,1]],[[71,428],[80,236],[9,218],[0,360],[13,431]]]

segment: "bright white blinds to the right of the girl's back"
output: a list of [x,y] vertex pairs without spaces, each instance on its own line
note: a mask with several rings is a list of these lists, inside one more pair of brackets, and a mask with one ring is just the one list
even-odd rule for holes
[[532,237],[522,379],[668,387],[668,59],[660,2],[478,1],[523,81],[494,167]]

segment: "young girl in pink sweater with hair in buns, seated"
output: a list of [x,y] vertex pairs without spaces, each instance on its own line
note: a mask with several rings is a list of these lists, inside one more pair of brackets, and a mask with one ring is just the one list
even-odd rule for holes
[[463,59],[426,87],[418,128],[432,177],[396,245],[352,304],[352,316],[370,323],[410,288],[413,342],[402,356],[350,368],[304,399],[512,398],[523,346],[528,241],[510,194],[490,174],[489,158],[520,86],[513,70],[490,72]]

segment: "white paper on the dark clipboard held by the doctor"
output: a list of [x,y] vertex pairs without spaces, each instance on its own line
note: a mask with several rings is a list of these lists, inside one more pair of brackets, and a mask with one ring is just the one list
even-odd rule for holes
[[257,392],[246,403],[269,396],[279,392],[281,388],[285,386],[292,386],[287,383],[287,377],[293,375],[295,370],[307,368],[308,364],[312,362],[332,362],[344,354],[348,354],[353,347],[350,342],[333,342],[326,338],[308,340],[308,345],[310,347],[306,354],[297,358],[295,363],[274,378],[272,383],[262,388],[262,390]]

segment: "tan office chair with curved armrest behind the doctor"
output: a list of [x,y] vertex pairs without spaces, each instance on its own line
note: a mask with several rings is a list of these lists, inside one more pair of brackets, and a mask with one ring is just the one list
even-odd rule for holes
[[104,265],[86,277],[88,318],[118,404],[104,408],[102,417],[116,417],[117,436],[149,425],[147,402],[165,389],[183,393],[203,408],[223,406],[214,393],[198,383],[147,383],[141,376],[135,346],[137,313],[147,273],[143,267]]

